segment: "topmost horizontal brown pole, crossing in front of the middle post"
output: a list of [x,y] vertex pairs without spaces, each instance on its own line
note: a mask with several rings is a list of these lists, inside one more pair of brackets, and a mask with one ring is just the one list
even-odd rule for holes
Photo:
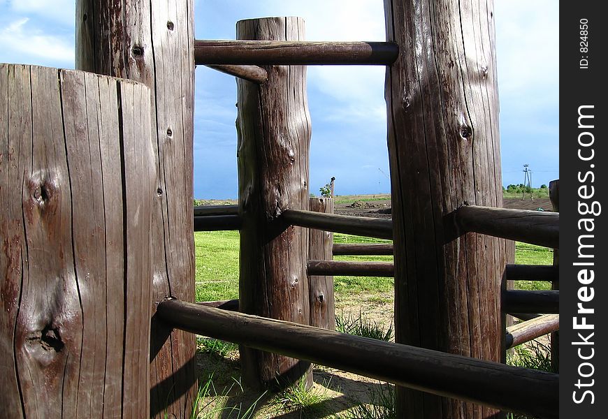
[[399,48],[390,42],[194,41],[196,64],[383,65]]

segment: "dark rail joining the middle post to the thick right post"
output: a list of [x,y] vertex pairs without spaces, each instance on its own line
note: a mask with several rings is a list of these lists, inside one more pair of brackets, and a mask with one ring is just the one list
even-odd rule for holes
[[393,221],[366,216],[322,214],[305,210],[287,210],[283,219],[293,226],[318,228],[333,233],[354,234],[378,239],[393,238]]

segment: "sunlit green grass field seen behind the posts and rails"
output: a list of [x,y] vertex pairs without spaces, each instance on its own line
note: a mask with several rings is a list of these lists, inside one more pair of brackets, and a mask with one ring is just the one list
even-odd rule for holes
[[[215,301],[238,298],[238,232],[194,233],[196,253],[196,300]],[[389,243],[389,240],[352,235],[334,235],[335,243]],[[551,265],[553,251],[533,244],[516,243],[515,262]],[[391,262],[392,256],[336,256],[336,260],[377,260]],[[386,293],[393,290],[393,279],[383,277],[335,277],[336,295]],[[520,289],[551,289],[549,282],[516,281]]]

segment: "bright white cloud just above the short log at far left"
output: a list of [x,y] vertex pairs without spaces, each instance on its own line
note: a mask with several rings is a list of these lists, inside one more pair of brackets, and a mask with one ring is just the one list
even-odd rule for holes
[[34,29],[27,24],[28,22],[27,17],[22,17],[0,30],[0,47],[3,55],[20,57],[20,61],[27,60],[25,57],[29,56],[61,64],[73,64],[73,43],[65,38]]

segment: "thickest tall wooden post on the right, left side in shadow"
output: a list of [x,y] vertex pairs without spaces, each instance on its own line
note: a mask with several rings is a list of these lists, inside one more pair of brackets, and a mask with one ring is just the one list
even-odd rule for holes
[[[461,235],[461,205],[502,207],[493,2],[385,0],[396,341],[500,362],[505,241]],[[397,389],[398,416],[493,409]]]

